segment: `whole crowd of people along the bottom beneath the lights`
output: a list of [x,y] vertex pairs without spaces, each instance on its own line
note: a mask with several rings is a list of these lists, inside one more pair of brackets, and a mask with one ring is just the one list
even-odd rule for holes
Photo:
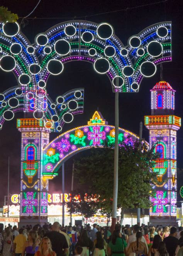
[[3,256],[183,256],[183,228],[97,224],[61,227],[59,222],[0,229]]

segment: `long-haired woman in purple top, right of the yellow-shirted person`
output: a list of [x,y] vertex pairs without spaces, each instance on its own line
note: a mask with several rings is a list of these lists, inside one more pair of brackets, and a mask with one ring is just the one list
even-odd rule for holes
[[25,241],[23,249],[22,249],[22,256],[34,256],[34,254],[37,252],[39,248],[39,244],[37,241],[37,232],[36,231],[30,231],[28,234],[28,239]]

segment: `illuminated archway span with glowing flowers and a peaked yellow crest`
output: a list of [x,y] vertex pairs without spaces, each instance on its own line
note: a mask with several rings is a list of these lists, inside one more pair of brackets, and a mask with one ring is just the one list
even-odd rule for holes
[[[119,144],[124,142],[133,145],[139,137],[125,129],[119,128]],[[100,112],[95,112],[87,125],[76,127],[51,141],[43,154],[42,175],[52,179],[58,175],[59,167],[74,154],[91,149],[91,147],[113,146],[115,128],[103,119]]]

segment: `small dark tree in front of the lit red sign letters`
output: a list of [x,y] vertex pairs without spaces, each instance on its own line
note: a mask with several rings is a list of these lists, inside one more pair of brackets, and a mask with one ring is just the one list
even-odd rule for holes
[[98,209],[97,199],[98,197],[93,194],[85,193],[85,192],[74,192],[71,197],[71,202],[67,203],[69,214],[77,214],[80,213],[83,217],[83,222],[86,224],[88,222],[88,218],[92,217],[96,214]]

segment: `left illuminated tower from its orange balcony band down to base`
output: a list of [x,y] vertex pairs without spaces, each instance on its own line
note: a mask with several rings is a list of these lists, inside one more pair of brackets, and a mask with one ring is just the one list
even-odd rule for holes
[[43,148],[49,143],[51,122],[17,119],[21,132],[20,225],[47,221],[48,180],[42,177]]

